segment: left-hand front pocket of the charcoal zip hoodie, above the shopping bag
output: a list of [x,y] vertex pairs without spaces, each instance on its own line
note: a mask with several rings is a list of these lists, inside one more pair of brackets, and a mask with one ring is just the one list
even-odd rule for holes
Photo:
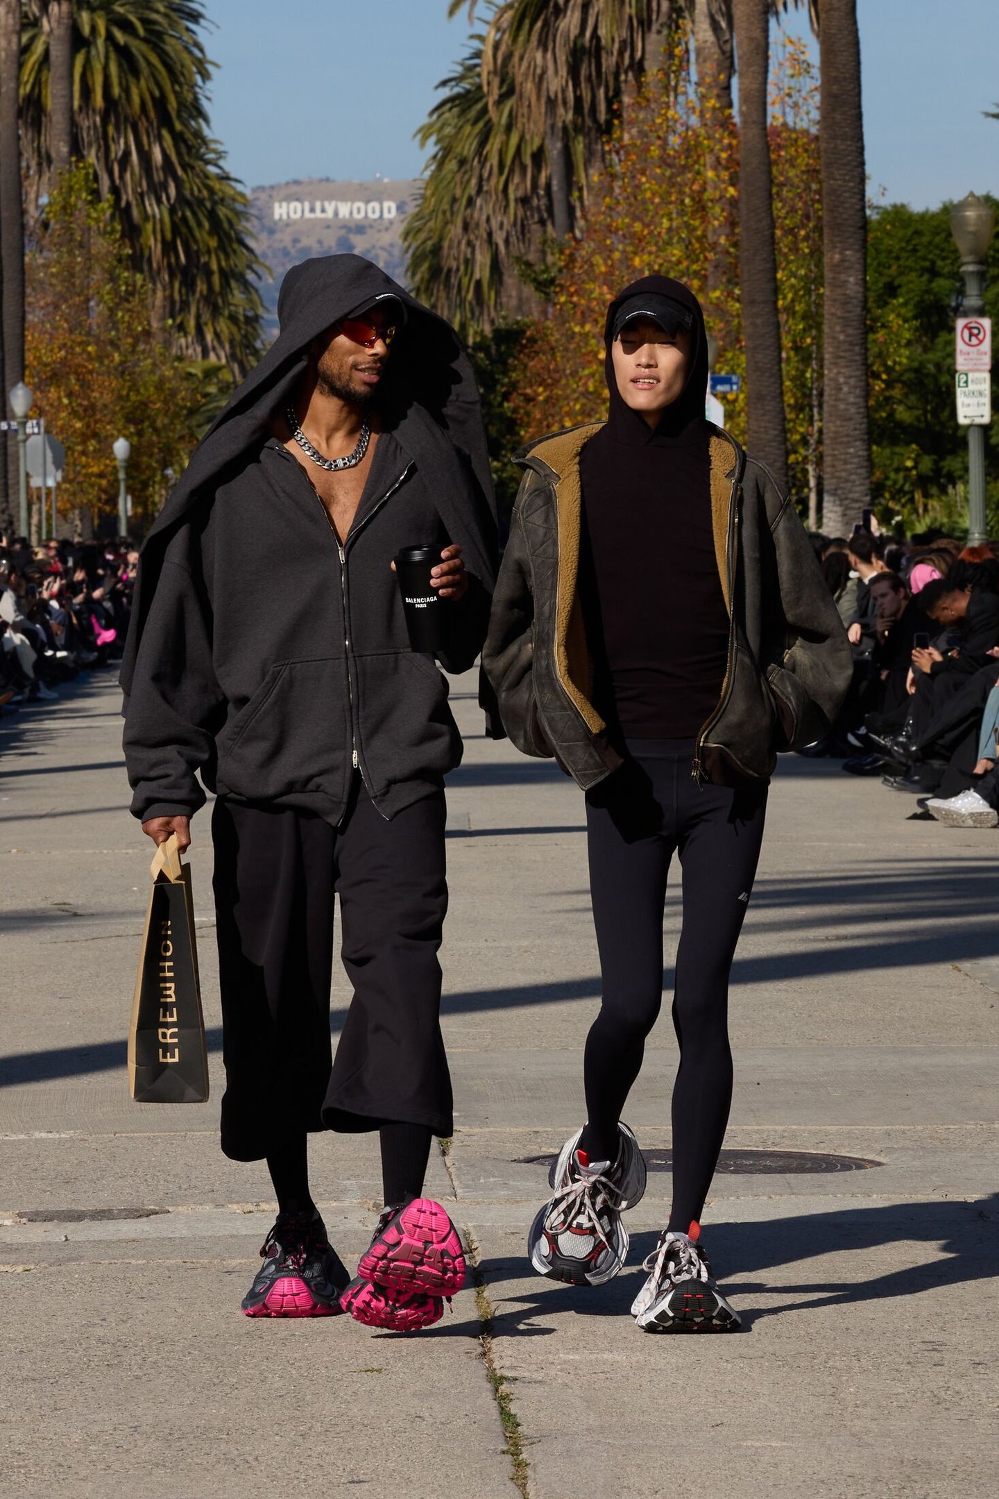
[[343,657],[280,661],[217,741],[219,790],[247,800],[340,796],[350,757]]

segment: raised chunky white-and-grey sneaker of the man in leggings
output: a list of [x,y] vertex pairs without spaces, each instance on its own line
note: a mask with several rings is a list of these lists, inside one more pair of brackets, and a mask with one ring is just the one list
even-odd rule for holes
[[622,1213],[646,1190],[646,1157],[628,1124],[617,1126],[617,1160],[590,1162],[580,1151],[583,1130],[562,1147],[548,1172],[554,1196],[527,1234],[527,1255],[539,1276],[572,1286],[602,1286],[623,1267],[628,1229]]

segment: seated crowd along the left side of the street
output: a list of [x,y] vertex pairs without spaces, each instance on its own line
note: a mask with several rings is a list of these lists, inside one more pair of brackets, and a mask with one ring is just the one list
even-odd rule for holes
[[139,555],[129,541],[0,535],[0,714],[121,655]]

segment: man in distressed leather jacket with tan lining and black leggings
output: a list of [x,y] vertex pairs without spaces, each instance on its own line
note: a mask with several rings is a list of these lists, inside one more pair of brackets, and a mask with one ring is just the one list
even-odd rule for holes
[[622,1213],[646,1166],[622,1115],[662,1004],[675,854],[672,1205],[632,1315],[653,1333],[726,1331],[738,1315],[713,1279],[701,1213],[732,1088],[728,976],[776,752],[828,733],[851,652],[794,505],[705,421],[696,297],[644,277],[610,304],[604,342],[607,420],[520,454],[482,655],[512,742],[554,755],[586,793],[602,974],[586,1121],[559,1153],[527,1250],[539,1274],[580,1286],[625,1264]]

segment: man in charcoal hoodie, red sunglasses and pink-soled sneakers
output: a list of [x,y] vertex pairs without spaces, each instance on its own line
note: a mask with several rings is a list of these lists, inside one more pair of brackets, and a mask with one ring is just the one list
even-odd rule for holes
[[[446,682],[410,649],[392,558],[439,553],[439,660],[467,670],[496,522],[478,391],[452,330],[368,261],[285,277],[280,336],[145,543],[123,667],[132,811],[162,842],[217,793],[222,1148],[267,1159],[279,1216],[250,1316],[425,1327],[464,1276],[421,1198],[452,1132],[439,1025]],[[334,892],[353,983],[330,1042]],[[380,1132],[386,1210],[346,1286],[307,1133]]]

